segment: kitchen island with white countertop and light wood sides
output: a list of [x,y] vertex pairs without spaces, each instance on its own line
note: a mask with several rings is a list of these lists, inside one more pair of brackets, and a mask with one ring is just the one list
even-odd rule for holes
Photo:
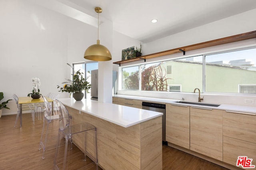
[[[98,164],[103,169],[162,170],[163,113],[100,103],[94,100],[60,99],[72,116],[72,125],[87,122],[97,128]],[[89,139],[88,139],[89,136]],[[73,143],[84,151],[85,138]],[[86,151],[94,155],[87,135]]]

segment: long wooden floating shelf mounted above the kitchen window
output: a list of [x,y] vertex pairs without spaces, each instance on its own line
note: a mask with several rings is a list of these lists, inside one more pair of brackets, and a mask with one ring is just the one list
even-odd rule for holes
[[123,60],[123,61],[116,61],[113,64],[119,64],[119,66],[120,66],[121,64],[124,64],[124,63],[130,63],[130,62],[139,61],[142,59],[144,59],[144,61],[146,61],[146,59],[161,57],[164,55],[171,55],[171,54],[175,54],[175,53],[183,53],[183,55],[185,55],[186,51],[202,49],[202,48],[206,48],[206,47],[212,47],[212,46],[222,45],[222,44],[227,44],[227,43],[234,43],[237,41],[243,41],[243,40],[252,39],[252,38],[256,38],[256,31],[251,31],[251,32],[242,33],[242,34],[238,34],[238,35],[233,35],[230,37],[215,39],[212,41],[206,41],[204,43],[188,45],[185,47],[180,47],[180,48],[162,51],[162,52],[158,52],[158,53],[153,53],[153,54],[149,54],[149,55],[143,55],[140,57],[135,57],[135,58],[127,59],[127,60]]

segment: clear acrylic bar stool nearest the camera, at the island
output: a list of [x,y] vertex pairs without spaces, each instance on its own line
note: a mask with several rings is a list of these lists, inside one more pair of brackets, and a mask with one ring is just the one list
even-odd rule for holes
[[[77,155],[79,153],[70,154],[70,150],[72,150],[72,136],[78,135],[78,133],[84,133],[81,135],[85,140],[83,141],[84,153],[82,155],[84,162],[79,162],[77,164],[82,165],[84,168],[92,168],[95,167],[98,170],[98,154],[97,154],[97,130],[96,127],[91,125],[90,123],[80,123],[77,125],[70,125],[70,116],[66,107],[58,100],[56,100],[57,106],[59,107],[60,117],[62,118],[59,122],[59,132],[58,132],[58,141],[56,144],[56,152],[54,158],[54,168],[53,169],[65,169],[69,166],[69,160],[74,165],[74,161],[77,161]],[[65,145],[62,144],[62,139],[65,139]],[[88,140],[86,141],[86,138]],[[90,139],[90,140],[89,140]],[[68,145],[70,145],[68,147]],[[88,145],[88,146],[87,146]],[[94,146],[94,147],[93,147]],[[63,149],[64,147],[64,149]],[[88,149],[86,149],[88,147]],[[94,149],[93,149],[94,148]],[[94,152],[93,152],[94,151]],[[70,158],[73,156],[73,159]],[[76,158],[74,158],[74,156]],[[86,161],[86,156],[91,158],[92,160]],[[72,160],[71,160],[72,159]],[[72,166],[71,165],[71,166]],[[76,169],[78,167],[75,167]],[[80,167],[79,167],[80,168]],[[71,169],[74,169],[72,167]]]

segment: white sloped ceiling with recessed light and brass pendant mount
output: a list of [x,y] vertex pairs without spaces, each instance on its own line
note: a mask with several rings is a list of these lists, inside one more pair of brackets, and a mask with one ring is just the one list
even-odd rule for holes
[[[90,25],[100,21],[144,43],[256,8],[256,0],[30,0]],[[157,19],[157,23],[151,23]],[[246,18],[244,18],[246,20]],[[238,21],[239,24],[239,21]]]

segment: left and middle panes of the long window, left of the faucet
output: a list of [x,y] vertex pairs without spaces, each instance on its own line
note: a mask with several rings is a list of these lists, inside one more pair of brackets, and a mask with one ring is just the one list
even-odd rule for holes
[[122,75],[122,90],[193,92],[202,89],[202,56],[126,67]]

